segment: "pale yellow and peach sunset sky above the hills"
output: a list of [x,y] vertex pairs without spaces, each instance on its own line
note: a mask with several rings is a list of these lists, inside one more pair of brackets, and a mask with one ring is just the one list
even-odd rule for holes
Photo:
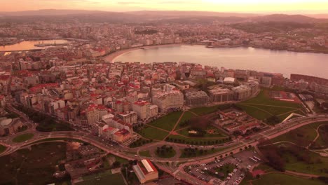
[[53,8],[93,11],[328,13],[328,0],[0,0],[0,5],[0,11]]

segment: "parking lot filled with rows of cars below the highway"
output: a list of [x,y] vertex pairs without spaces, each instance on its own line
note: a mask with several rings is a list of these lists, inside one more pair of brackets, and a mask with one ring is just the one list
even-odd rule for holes
[[202,181],[210,184],[240,184],[245,177],[241,169],[249,170],[261,163],[261,158],[254,151],[242,151],[233,156],[219,158],[210,163],[187,166],[184,170]]

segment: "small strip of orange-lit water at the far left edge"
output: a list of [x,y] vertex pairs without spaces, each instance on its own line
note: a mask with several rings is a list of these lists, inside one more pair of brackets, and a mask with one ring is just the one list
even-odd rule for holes
[[43,48],[48,48],[48,47],[51,47],[51,46],[37,47],[37,46],[34,46],[34,44],[37,44],[37,43],[55,43],[55,42],[56,43],[67,43],[67,40],[55,39],[55,40],[45,40],[45,41],[22,41],[20,43],[15,43],[13,45],[0,46],[0,51],[43,49]]

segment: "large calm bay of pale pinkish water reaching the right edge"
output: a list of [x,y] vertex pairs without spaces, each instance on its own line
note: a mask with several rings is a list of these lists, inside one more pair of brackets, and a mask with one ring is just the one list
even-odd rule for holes
[[205,46],[163,46],[132,50],[115,62],[196,62],[230,69],[252,69],[284,74],[306,74],[328,78],[328,54],[296,53],[261,48],[205,48]]

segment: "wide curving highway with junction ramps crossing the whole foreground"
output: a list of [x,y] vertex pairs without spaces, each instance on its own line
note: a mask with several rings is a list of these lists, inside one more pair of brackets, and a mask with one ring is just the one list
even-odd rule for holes
[[[95,135],[92,135],[88,132],[85,132],[84,130],[76,130],[76,131],[57,131],[57,132],[39,132],[37,131],[36,124],[25,116],[20,111],[17,111],[13,107],[8,107],[11,111],[14,111],[16,114],[19,114],[21,118],[25,119],[27,121],[27,124],[29,125],[29,129],[25,130],[24,132],[20,132],[17,135],[21,135],[22,133],[32,133],[34,137],[32,139],[29,139],[26,142],[22,143],[15,143],[13,142],[13,138],[17,135],[9,135],[7,137],[2,137],[0,140],[0,144],[7,147],[6,151],[3,153],[0,153],[0,156],[8,155],[10,153],[13,153],[14,151],[17,151],[18,149],[24,148],[26,146],[30,146],[32,144],[35,144],[36,142],[42,142],[44,139],[78,139],[83,142],[88,142],[90,144],[93,144],[94,146],[97,146],[98,148],[102,149],[103,151],[106,151],[108,153],[112,153],[116,156],[127,158],[129,160],[134,159],[142,159],[142,158],[149,158],[154,163],[157,163],[158,166],[165,170],[165,172],[168,172],[172,174],[177,179],[183,179],[185,181],[190,181],[191,176],[184,172],[183,168],[186,165],[192,165],[193,163],[207,163],[213,160],[214,157],[219,157],[221,155],[226,155],[229,153],[238,153],[240,152],[241,148],[244,148],[245,146],[255,146],[259,144],[259,140],[266,138],[266,139],[273,139],[274,137],[278,137],[280,135],[283,135],[291,130],[295,130],[296,128],[300,128],[303,125],[308,125],[310,123],[317,123],[320,121],[328,121],[328,115],[311,115],[307,117],[301,117],[301,118],[294,118],[290,121],[287,121],[285,123],[280,123],[278,125],[275,125],[275,127],[272,127],[268,130],[264,130],[262,132],[258,132],[255,135],[252,135],[248,139],[235,139],[233,142],[229,142],[228,144],[221,144],[218,146],[214,146],[215,149],[222,149],[218,151],[217,153],[208,154],[206,156],[197,156],[194,158],[179,158],[179,155],[176,155],[172,158],[159,158],[158,156],[151,156],[151,157],[142,157],[142,156],[135,156],[135,154],[139,153],[139,151],[143,150],[150,150],[150,149],[156,149],[157,147],[163,146],[164,144],[168,146],[173,146],[175,149],[184,149],[186,147],[189,147],[189,145],[186,144],[177,144],[172,142],[154,142],[150,144],[145,144],[143,146],[139,146],[136,148],[128,148],[127,146],[121,146],[117,145],[114,146],[111,143],[104,141],[101,137],[97,137]],[[204,147],[211,147],[212,146],[204,146]],[[208,148],[210,149],[210,148]],[[133,154],[135,153],[135,154]],[[182,165],[179,165],[179,167],[168,167],[168,166],[160,166],[160,163],[183,163]],[[196,180],[196,179],[195,179]],[[198,180],[199,181],[199,180]],[[199,184],[203,184],[202,181],[199,181]]]

